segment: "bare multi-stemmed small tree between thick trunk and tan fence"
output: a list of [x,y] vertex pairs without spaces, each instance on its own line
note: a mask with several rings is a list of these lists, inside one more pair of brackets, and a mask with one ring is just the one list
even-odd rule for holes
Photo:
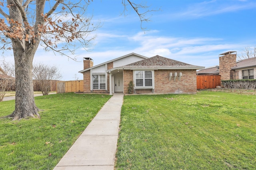
[[56,66],[42,63],[33,65],[33,78],[43,95],[48,95],[53,80],[59,80],[61,77],[62,75]]

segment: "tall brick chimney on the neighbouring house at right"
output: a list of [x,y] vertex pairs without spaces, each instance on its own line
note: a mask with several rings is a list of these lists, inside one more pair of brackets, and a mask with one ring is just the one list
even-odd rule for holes
[[[226,53],[219,54],[219,64],[220,64],[220,79],[221,80],[230,80],[233,79],[232,67],[236,65],[236,51],[228,51]],[[222,56],[220,56],[222,55]]]

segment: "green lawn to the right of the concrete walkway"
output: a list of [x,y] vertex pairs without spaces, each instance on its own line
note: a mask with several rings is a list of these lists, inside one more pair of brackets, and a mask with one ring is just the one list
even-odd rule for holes
[[256,167],[256,95],[124,96],[116,169]]

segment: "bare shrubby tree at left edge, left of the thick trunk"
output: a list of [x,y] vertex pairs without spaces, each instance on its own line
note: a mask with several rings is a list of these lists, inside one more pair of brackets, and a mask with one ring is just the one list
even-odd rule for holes
[[0,64],[0,102],[3,101],[6,92],[15,85],[14,65],[2,61]]

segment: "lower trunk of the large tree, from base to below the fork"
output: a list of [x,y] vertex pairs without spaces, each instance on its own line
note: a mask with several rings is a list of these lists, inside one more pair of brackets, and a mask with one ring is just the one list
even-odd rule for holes
[[13,43],[14,61],[15,61],[15,78],[16,78],[16,95],[15,110],[10,115],[14,120],[26,117],[40,118],[38,108],[34,101],[34,90],[32,80],[32,61],[35,49],[29,48],[29,44],[24,48],[18,43]]

